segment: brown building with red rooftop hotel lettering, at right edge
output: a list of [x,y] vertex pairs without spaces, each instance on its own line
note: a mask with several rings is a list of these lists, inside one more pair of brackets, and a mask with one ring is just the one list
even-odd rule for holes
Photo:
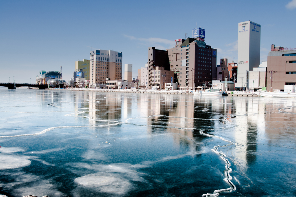
[[275,47],[267,56],[266,90],[284,90],[284,85],[296,85],[296,49]]

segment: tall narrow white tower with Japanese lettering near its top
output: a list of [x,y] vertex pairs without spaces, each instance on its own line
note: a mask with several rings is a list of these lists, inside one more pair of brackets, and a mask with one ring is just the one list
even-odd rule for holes
[[260,64],[261,25],[250,20],[238,24],[238,62],[236,88],[247,87],[247,71]]

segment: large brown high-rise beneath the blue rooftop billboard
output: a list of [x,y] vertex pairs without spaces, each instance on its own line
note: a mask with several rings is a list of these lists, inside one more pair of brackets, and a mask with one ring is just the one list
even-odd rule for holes
[[175,47],[167,52],[180,89],[194,89],[216,78],[217,50],[206,45],[204,39],[177,39]]

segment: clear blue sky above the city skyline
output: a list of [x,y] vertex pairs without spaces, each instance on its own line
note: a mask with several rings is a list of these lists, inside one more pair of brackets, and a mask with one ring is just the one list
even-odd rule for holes
[[[75,61],[91,49],[123,53],[133,76],[148,47],[171,48],[175,39],[205,29],[217,57],[237,59],[238,23],[261,25],[260,61],[271,44],[296,47],[296,0],[282,1],[0,1],[0,82],[32,82],[39,71],[73,76]],[[219,60],[218,60],[219,61]]]

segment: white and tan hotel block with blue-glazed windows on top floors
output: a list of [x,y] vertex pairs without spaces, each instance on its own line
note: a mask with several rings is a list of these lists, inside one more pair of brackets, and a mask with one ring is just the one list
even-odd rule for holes
[[90,53],[89,87],[104,87],[106,79],[122,80],[122,53],[93,50]]

